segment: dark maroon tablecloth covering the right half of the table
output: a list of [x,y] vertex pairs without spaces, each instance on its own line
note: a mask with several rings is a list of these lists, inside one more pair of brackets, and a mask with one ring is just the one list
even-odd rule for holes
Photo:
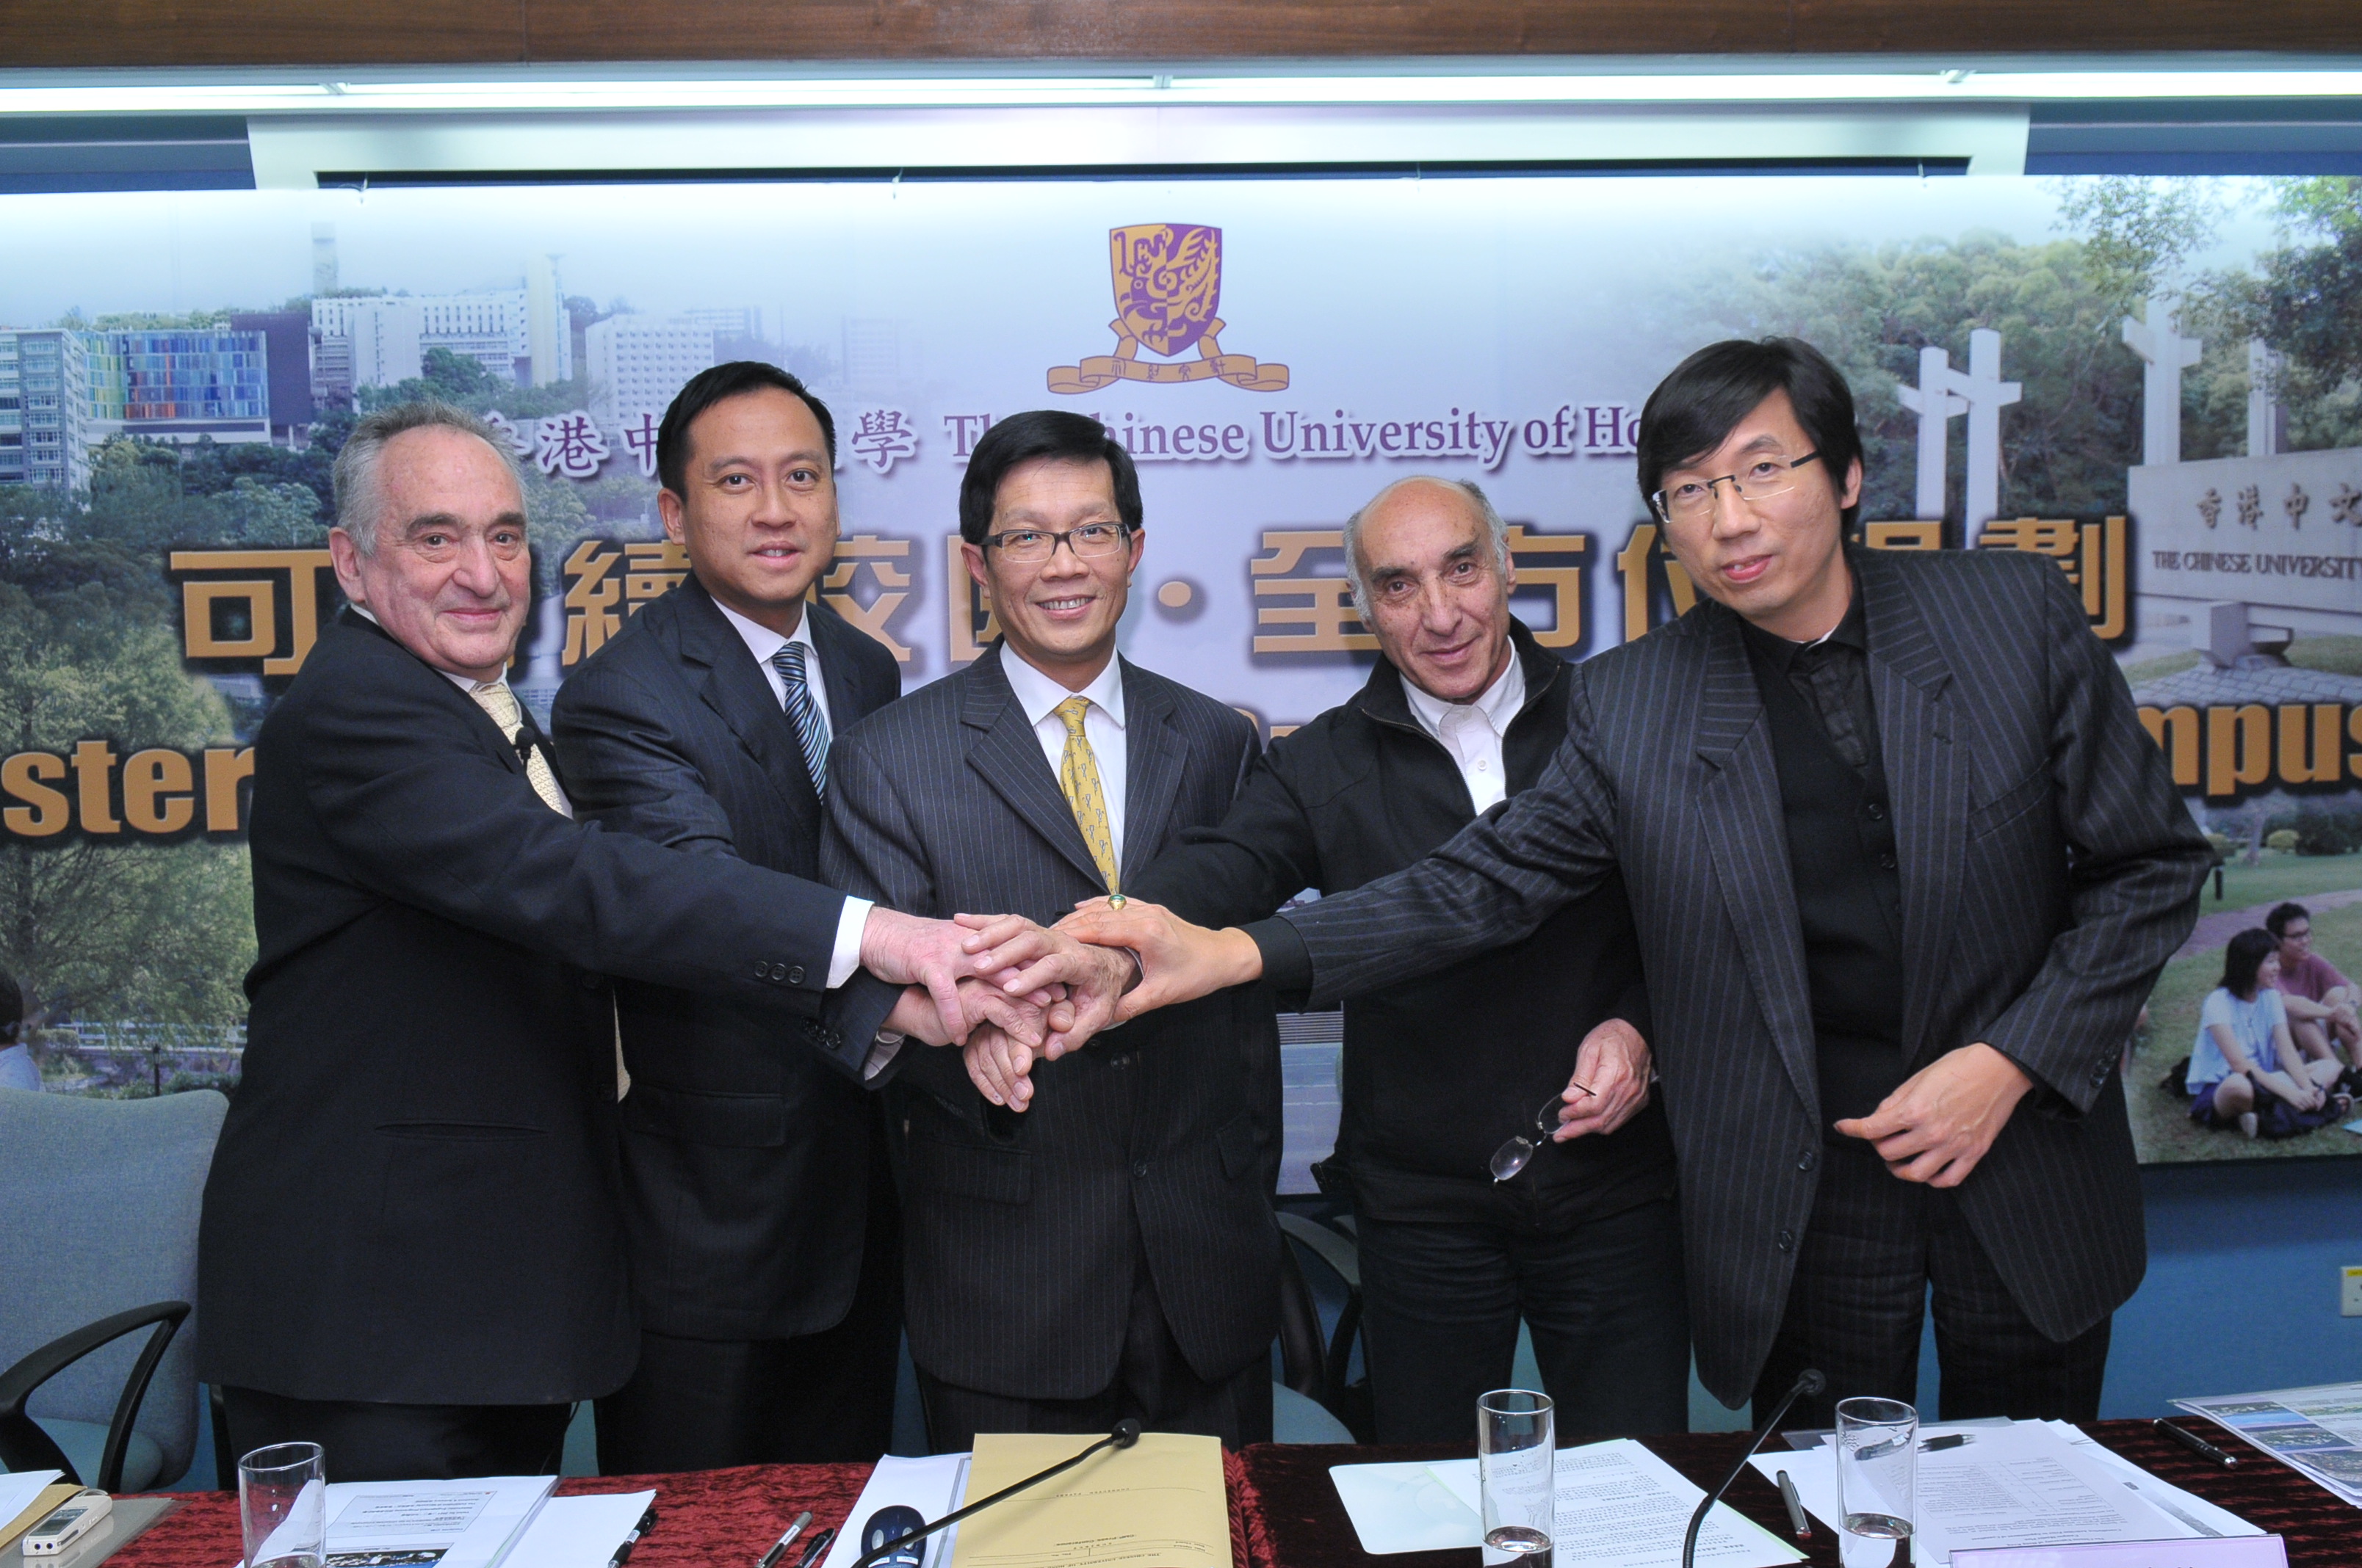
[[[2362,1509],[2350,1509],[2331,1492],[2312,1485],[2286,1464],[2265,1455],[2244,1455],[2239,1469],[2223,1471],[2168,1438],[2147,1422],[2100,1422],[2090,1433],[2154,1476],[2216,1502],[2260,1530],[2289,1542],[2289,1568],[2362,1568]],[[1689,1433],[1644,1438],[1672,1469],[1703,1488],[1712,1488],[1738,1459],[1746,1433]],[[1353,1535],[1327,1471],[1332,1464],[1372,1464],[1382,1459],[1467,1459],[1467,1445],[1424,1448],[1313,1448],[1259,1445],[1242,1455],[1245,1485],[1238,1488],[1238,1525],[1245,1530],[1254,1568],[1476,1568],[1474,1547],[1464,1551],[1403,1551],[1370,1556]],[[1734,1509],[1790,1540],[1788,1511],[1779,1492],[1753,1469],[1727,1492]],[[1819,1521],[1812,1540],[1797,1542],[1814,1563],[1838,1561],[1838,1540]]]

